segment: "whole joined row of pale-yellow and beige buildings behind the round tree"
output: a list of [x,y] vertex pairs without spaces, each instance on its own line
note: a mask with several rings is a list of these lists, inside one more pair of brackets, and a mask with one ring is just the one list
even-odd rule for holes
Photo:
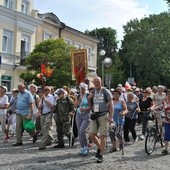
[[87,79],[91,82],[96,76],[99,41],[62,23],[53,13],[38,14],[33,0],[0,0],[0,23],[0,85],[9,91],[26,72],[24,61],[35,44],[50,38],[63,38],[77,49],[87,49]]

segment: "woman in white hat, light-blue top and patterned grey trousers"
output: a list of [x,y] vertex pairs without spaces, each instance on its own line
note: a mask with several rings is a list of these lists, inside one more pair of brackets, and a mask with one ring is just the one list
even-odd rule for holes
[[78,137],[80,141],[80,155],[86,156],[88,154],[88,144],[86,138],[86,129],[89,126],[90,107],[88,105],[87,91],[88,85],[80,83],[80,97],[75,102],[77,107],[76,124],[78,129]]

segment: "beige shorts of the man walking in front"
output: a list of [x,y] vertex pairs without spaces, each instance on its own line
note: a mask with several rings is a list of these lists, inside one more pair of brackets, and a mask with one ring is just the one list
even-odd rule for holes
[[[98,123],[97,123],[98,121]],[[100,133],[100,135],[107,135],[108,130],[108,114],[100,116],[97,120],[90,121],[90,133]]]

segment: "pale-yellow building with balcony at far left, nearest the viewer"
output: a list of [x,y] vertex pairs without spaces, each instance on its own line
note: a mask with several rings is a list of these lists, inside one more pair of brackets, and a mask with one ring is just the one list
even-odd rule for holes
[[0,84],[11,91],[26,71],[23,62],[34,48],[41,21],[32,0],[0,0],[0,23]]

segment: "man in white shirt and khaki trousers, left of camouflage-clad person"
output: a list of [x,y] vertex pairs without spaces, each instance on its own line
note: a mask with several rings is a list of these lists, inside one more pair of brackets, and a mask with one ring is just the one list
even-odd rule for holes
[[51,87],[45,86],[44,92],[41,94],[39,111],[41,113],[40,123],[41,132],[43,134],[39,150],[46,149],[46,146],[51,145],[53,136],[51,132],[51,122],[53,117],[53,107],[55,98],[51,94]]

